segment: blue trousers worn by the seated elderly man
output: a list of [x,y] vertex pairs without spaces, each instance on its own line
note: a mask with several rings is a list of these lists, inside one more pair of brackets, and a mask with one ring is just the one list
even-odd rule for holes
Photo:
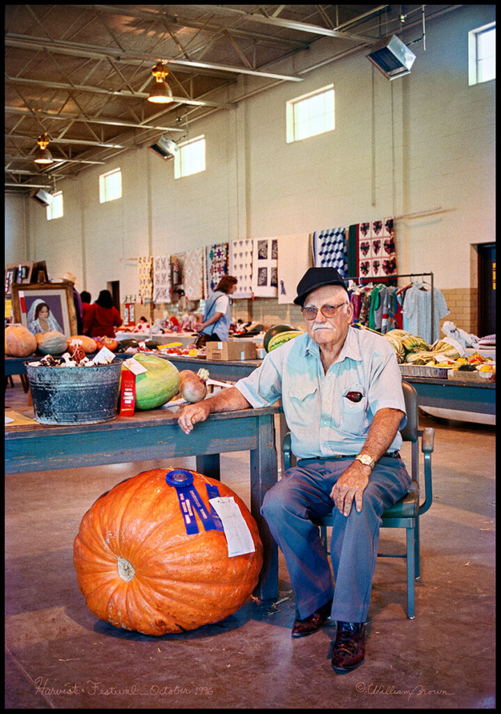
[[[285,472],[265,495],[261,514],[282,550],[300,618],[307,618],[333,599],[331,618],[343,622],[367,620],[381,515],[405,496],[410,476],[399,458],[380,458],[363,492],[362,511],[343,516],[330,491],[353,459],[319,460]],[[330,567],[318,526],[310,518],[333,512]]]

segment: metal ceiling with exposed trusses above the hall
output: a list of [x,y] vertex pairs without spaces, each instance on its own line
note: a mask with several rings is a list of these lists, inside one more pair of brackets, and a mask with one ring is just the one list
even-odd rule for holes
[[[246,94],[299,85],[308,69],[290,73],[283,60],[315,42],[329,43],[333,61],[404,26],[419,38],[422,8],[430,19],[455,7],[7,5],[5,190],[53,191],[161,134],[183,139],[197,119],[233,111]],[[171,104],[147,101],[158,61],[169,71]],[[34,156],[44,132],[54,164],[40,169]]]

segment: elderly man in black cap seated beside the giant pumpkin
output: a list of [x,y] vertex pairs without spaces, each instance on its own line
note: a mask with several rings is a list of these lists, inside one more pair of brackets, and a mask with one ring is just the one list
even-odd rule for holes
[[[188,434],[210,413],[282,399],[298,462],[267,491],[261,513],[293,585],[293,638],[335,620],[331,663],[343,674],[365,657],[381,514],[410,487],[398,451],[406,423],[402,376],[383,336],[350,325],[353,305],[335,268],[308,268],[294,302],[306,332],[269,352],[235,386],[183,408],[178,424]],[[331,512],[334,578],[313,523]]]

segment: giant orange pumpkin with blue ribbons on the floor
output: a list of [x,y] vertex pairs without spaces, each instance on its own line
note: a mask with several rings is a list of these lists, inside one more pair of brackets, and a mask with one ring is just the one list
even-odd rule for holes
[[103,493],[81,521],[74,566],[88,608],[125,630],[163,635],[217,623],[251,595],[263,565],[258,527],[245,503],[220,481],[193,474],[210,511],[206,484],[233,496],[255,544],[228,557],[223,531],[186,533],[170,469],[143,471]]

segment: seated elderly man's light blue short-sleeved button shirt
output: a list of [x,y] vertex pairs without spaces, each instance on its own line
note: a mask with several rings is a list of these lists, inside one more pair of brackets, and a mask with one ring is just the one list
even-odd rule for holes
[[[298,458],[358,454],[378,409],[405,413],[393,347],[383,336],[353,327],[326,375],[320,348],[305,333],[268,353],[260,367],[235,386],[253,407],[282,399],[292,451]],[[352,401],[358,395],[360,401]],[[388,451],[401,446],[398,432]]]

